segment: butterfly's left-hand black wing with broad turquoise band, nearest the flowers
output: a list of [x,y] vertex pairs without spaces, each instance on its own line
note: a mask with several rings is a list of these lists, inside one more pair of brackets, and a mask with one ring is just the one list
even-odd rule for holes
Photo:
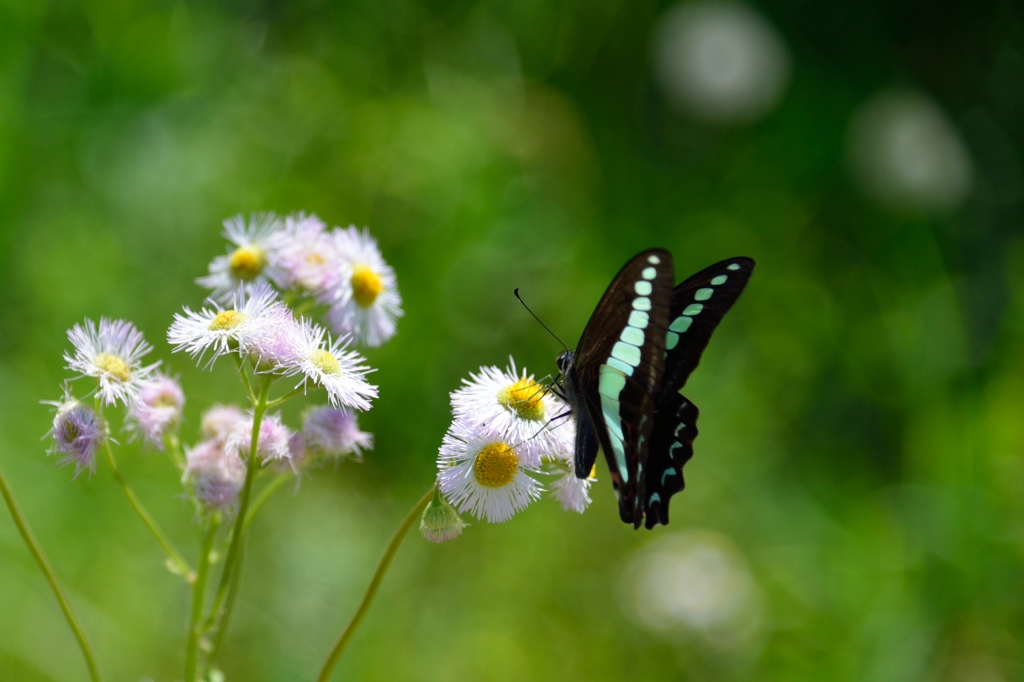
[[[650,249],[615,275],[573,354],[566,388],[580,403],[577,476],[590,475],[596,442],[618,494],[620,516],[639,527],[643,469],[654,425],[672,306],[672,254]],[[589,420],[588,423],[584,423]],[[592,430],[593,433],[588,431]]]

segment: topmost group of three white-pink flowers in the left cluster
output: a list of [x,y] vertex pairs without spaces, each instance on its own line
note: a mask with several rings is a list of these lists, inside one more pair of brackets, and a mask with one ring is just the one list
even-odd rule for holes
[[212,298],[234,304],[246,289],[263,282],[292,298],[327,306],[326,319],[338,336],[379,346],[395,334],[401,297],[394,270],[377,242],[354,226],[328,230],[315,215],[272,213],[224,221],[228,253],[210,263],[197,283]]

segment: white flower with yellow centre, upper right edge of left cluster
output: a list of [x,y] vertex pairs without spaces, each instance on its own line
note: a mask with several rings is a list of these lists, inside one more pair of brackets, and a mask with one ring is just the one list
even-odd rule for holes
[[319,295],[331,306],[327,314],[331,329],[338,335],[351,335],[358,344],[379,346],[394,336],[395,321],[402,314],[394,270],[368,230],[335,229],[331,239],[336,279]]

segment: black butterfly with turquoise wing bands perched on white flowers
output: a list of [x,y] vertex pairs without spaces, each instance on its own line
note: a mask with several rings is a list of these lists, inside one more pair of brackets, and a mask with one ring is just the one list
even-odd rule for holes
[[575,351],[558,355],[575,475],[590,475],[600,449],[618,514],[636,528],[669,522],[697,436],[697,407],[679,391],[753,272],[753,259],[729,258],[674,287],[672,254],[648,249],[608,285]]

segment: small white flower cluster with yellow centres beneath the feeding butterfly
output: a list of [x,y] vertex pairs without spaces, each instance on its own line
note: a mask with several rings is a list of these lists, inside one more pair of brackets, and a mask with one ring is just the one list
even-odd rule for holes
[[[508,369],[480,368],[463,384],[452,393],[455,419],[437,458],[446,501],[476,518],[506,521],[540,499],[539,476],[547,473],[556,476],[552,491],[562,508],[583,512],[593,479],[575,476],[575,428],[565,404],[511,359]],[[444,518],[451,515],[435,500],[424,515],[424,536],[436,542],[457,536],[462,526],[442,527]]]

